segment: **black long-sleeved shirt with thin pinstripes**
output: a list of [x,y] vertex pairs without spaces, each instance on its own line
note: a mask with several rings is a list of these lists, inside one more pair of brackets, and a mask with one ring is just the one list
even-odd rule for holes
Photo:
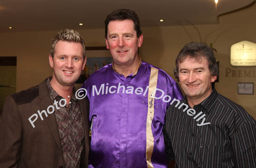
[[243,107],[216,90],[194,110],[188,104],[185,97],[166,112],[163,134],[175,168],[256,168],[256,121]]

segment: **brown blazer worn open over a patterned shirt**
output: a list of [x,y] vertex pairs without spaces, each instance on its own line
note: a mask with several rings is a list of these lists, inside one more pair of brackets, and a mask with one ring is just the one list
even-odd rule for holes
[[[85,131],[81,167],[87,168],[89,103],[87,98],[78,101]],[[43,120],[37,113],[37,110],[47,111],[49,105],[52,102],[46,80],[6,98],[0,121],[0,168],[64,168],[55,113],[47,113],[47,117],[42,113]],[[35,113],[38,118],[33,128],[28,118]]]

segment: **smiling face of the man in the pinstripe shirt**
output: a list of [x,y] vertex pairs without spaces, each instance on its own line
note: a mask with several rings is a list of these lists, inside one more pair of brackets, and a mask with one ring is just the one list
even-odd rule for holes
[[188,56],[182,63],[179,63],[179,80],[188,99],[204,100],[211,94],[211,82],[214,82],[216,78],[211,75],[204,57],[197,62]]

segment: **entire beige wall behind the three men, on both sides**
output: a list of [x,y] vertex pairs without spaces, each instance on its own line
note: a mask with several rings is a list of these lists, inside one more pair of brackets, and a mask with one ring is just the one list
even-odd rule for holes
[[[219,83],[216,89],[222,95],[241,104],[256,118],[256,93],[238,95],[238,82],[254,82],[256,77],[226,77],[226,68],[233,71],[255,71],[256,67],[233,67],[230,65],[230,46],[242,40],[256,42],[256,6],[231,13],[220,18],[220,24],[197,25],[202,39],[209,32],[206,41],[214,42],[216,37],[225,31],[214,43],[216,58],[220,61]],[[200,41],[192,26],[185,26],[194,41]],[[79,30],[87,46],[105,45],[104,30]],[[191,41],[182,26],[142,27],[144,35],[140,54],[143,60],[158,66],[173,76],[175,58],[182,47]],[[0,33],[0,56],[17,56],[17,91],[39,84],[52,74],[48,64],[50,41],[56,31],[50,32],[13,32]],[[254,88],[255,89],[255,88]]]

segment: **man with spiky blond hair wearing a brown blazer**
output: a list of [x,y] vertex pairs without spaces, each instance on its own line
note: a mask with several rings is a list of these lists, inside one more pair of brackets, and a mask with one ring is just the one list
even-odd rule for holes
[[88,100],[74,83],[84,69],[81,35],[66,29],[52,40],[53,77],[6,98],[0,121],[0,168],[88,167]]

